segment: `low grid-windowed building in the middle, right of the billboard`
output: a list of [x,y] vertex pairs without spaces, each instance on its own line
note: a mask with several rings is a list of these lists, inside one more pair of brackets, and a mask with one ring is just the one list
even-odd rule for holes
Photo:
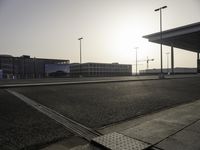
[[74,63],[70,65],[71,76],[105,77],[130,76],[132,65],[118,63]]

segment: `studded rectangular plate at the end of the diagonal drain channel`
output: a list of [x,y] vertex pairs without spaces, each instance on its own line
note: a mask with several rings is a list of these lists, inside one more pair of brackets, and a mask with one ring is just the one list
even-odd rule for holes
[[111,150],[143,150],[151,146],[117,132],[94,138],[92,143]]

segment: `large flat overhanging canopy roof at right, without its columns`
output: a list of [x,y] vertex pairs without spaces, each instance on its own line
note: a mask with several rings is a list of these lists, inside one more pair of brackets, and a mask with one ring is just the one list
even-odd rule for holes
[[[160,32],[145,35],[150,42],[161,43]],[[200,22],[162,32],[163,45],[200,52]]]

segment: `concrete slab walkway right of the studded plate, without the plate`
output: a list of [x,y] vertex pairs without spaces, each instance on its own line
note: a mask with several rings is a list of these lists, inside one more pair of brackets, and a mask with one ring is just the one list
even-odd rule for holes
[[199,108],[200,100],[197,100],[99,131],[117,132],[164,150],[199,150]]

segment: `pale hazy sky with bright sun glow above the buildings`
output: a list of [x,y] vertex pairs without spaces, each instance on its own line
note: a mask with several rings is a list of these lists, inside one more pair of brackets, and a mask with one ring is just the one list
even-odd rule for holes
[[[0,0],[0,53],[79,62],[83,36],[83,62],[134,64],[139,47],[138,59],[157,68],[159,45],[142,36],[159,31],[163,5],[163,30],[200,21],[200,0]],[[196,53],[175,49],[175,67],[195,66]]]

